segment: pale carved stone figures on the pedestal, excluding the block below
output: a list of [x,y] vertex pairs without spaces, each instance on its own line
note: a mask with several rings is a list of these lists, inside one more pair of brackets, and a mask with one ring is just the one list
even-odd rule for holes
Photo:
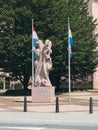
[[45,44],[38,40],[36,42],[39,46],[35,50],[35,87],[51,87],[52,84],[49,79],[49,70],[52,68],[52,60],[50,54],[52,53],[52,43],[50,40],[46,40]]

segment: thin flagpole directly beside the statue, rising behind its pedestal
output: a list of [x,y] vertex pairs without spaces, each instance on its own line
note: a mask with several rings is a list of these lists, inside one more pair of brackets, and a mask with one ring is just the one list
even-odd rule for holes
[[[34,20],[32,19],[32,29]],[[33,30],[32,30],[32,87],[34,87],[34,51],[33,51]]]

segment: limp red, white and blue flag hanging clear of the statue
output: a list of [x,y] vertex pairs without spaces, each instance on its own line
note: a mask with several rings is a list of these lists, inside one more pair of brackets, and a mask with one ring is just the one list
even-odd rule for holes
[[70,53],[70,59],[71,59],[72,58],[72,48],[74,46],[74,42],[73,42],[73,38],[72,38],[70,25],[68,25],[68,43],[69,43],[69,53]]

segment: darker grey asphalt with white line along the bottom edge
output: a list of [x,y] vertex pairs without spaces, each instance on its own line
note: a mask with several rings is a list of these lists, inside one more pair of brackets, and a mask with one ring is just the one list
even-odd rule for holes
[[0,130],[98,130],[98,126],[0,123]]

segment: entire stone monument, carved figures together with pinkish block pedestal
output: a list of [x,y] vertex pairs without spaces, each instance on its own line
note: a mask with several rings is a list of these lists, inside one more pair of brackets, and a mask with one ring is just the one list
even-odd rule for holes
[[50,103],[55,100],[55,88],[49,79],[49,71],[52,68],[52,42],[46,40],[44,44],[41,40],[38,40],[36,44],[38,49],[34,50],[36,60],[34,62],[35,81],[32,87],[32,102]]

